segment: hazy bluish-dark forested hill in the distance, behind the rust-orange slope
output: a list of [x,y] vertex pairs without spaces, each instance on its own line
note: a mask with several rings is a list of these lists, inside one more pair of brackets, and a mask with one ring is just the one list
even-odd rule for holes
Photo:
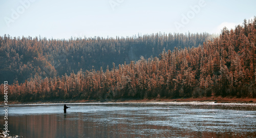
[[162,34],[137,35],[116,38],[71,38],[56,40],[47,38],[8,35],[0,37],[0,82],[13,80],[25,82],[35,75],[42,78],[68,75],[80,69],[99,71],[100,67],[112,63],[137,61],[141,56],[158,56],[163,49],[198,47],[211,35],[201,34]]

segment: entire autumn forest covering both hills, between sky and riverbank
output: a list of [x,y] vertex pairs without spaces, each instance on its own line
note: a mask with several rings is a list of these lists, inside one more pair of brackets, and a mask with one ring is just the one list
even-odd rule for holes
[[[256,98],[256,17],[245,19],[234,29],[223,28],[217,37],[210,36],[157,33],[69,40],[4,36],[0,37],[0,53],[6,55],[0,60],[1,76],[15,75],[8,96],[20,102]],[[139,60],[136,56],[140,56]],[[102,58],[105,62],[94,66]],[[0,90],[3,96],[3,84]]]

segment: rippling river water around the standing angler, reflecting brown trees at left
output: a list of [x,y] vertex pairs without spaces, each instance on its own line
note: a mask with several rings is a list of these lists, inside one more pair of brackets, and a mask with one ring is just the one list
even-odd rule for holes
[[[11,105],[23,137],[256,137],[256,104],[87,103]],[[3,106],[1,106],[2,109]],[[0,128],[4,125],[0,112]]]

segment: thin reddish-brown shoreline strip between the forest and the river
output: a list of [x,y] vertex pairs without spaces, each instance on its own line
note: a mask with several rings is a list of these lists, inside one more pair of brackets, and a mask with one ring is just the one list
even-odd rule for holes
[[[10,101],[8,105],[22,104],[54,104],[54,103],[168,103],[168,102],[200,102],[200,103],[256,103],[256,98],[227,98],[227,97],[202,97],[202,98],[179,98],[179,99],[102,99],[102,100],[49,100],[35,102]],[[0,102],[4,105],[4,102]]]

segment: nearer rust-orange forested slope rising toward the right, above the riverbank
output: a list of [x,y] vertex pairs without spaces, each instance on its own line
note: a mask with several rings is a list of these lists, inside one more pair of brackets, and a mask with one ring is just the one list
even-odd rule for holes
[[[79,51],[77,49],[73,51]],[[39,52],[37,54],[42,57]],[[113,63],[106,71],[80,70],[78,73],[51,78],[36,75],[24,83],[10,85],[8,98],[26,102],[212,95],[256,98],[255,55],[256,17],[253,21],[244,20],[242,26],[234,29],[224,28],[219,37],[197,48],[163,50],[159,57],[141,57],[130,64]],[[42,61],[47,59],[46,55]],[[3,95],[3,84],[0,90],[0,95]]]

